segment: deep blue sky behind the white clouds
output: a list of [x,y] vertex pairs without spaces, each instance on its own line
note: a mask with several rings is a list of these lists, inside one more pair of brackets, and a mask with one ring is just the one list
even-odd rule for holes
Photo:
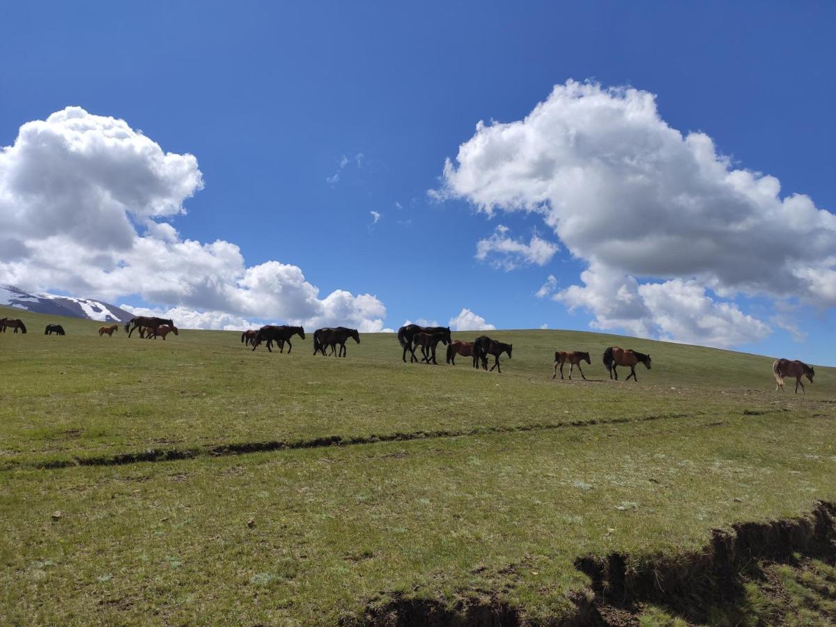
[[[247,268],[301,268],[319,298],[374,295],[388,328],[446,324],[462,308],[499,329],[600,326],[600,312],[535,295],[549,275],[553,293],[581,284],[590,261],[543,212],[499,207],[489,217],[477,206],[481,191],[443,179],[445,160],[457,167],[479,120],[523,120],[568,79],[655,94],[660,120],[710,136],[732,169],[776,177],[781,197],[836,208],[832,3],[13,3],[0,21],[0,145],[70,105],[125,120],[162,150],[196,157],[203,188],[182,202],[186,215],[165,217],[181,239],[232,242]],[[427,194],[445,188],[442,200]],[[374,224],[371,212],[380,214]],[[475,257],[497,225],[513,242],[536,233],[559,250],[542,265],[497,268],[506,257]],[[25,283],[20,268],[6,279]],[[176,302],[171,290],[115,295],[89,278],[36,274],[30,283],[43,289],[211,308]],[[707,343],[836,363],[827,298],[700,282],[711,303],[768,327]],[[794,341],[778,315],[806,339]],[[693,329],[660,329],[650,334],[700,340]]]

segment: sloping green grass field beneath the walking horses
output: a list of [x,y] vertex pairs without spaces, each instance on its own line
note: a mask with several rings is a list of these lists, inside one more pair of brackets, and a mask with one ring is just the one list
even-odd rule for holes
[[[514,345],[497,375],[404,364],[391,334],[328,359],[310,337],[253,353],[231,332],[21,317],[28,334],[0,334],[0,623],[556,624],[593,597],[577,558],[639,573],[836,502],[833,369],[794,395],[771,358],[603,334],[492,332]],[[612,344],[653,369],[610,381]],[[589,350],[589,381],[553,381],[556,349]],[[701,620],[777,615],[782,585],[826,622],[817,558],[765,566]],[[644,624],[686,611],[657,601]]]

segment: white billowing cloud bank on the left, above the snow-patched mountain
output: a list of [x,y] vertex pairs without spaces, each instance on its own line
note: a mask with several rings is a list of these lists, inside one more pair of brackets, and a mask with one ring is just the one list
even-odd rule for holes
[[297,266],[247,267],[232,242],[183,239],[166,218],[202,185],[193,155],[164,152],[124,120],[69,107],[28,122],[0,151],[0,281],[110,301],[140,294],[173,307],[181,326],[383,328],[370,294],[320,298]]

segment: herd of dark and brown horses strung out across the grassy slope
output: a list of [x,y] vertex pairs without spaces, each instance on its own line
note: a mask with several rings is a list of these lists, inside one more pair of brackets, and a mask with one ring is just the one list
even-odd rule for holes
[[[25,334],[26,324],[23,320],[13,318],[0,318],[0,333],[5,333],[6,329],[14,329],[14,333]],[[99,336],[107,334],[112,337],[114,333],[119,331],[119,324],[103,324],[99,327]],[[156,318],[154,316],[135,316],[125,323],[125,333],[130,338],[131,334],[137,331],[140,338],[156,339],[161,337],[166,339],[166,335],[173,333],[178,335],[177,328],[171,319]],[[58,334],[65,335],[64,327],[60,324],[47,324],[44,329],[44,334]],[[273,342],[276,343],[280,353],[284,352],[284,345],[288,345],[288,354],[293,349],[293,344],[290,339],[293,335],[298,335],[301,339],[305,339],[305,330],[302,327],[294,327],[286,324],[266,324],[260,329],[248,329],[241,334],[241,341],[247,346],[252,346],[255,350],[261,344],[265,344],[268,351],[273,352]],[[322,354],[324,356],[335,355],[337,357],[345,357],[348,354],[346,349],[346,342],[349,339],[354,339],[357,344],[360,343],[360,335],[357,329],[349,329],[348,327],[324,327],[314,331],[314,355]],[[511,359],[512,344],[505,344],[497,339],[489,338],[487,335],[480,335],[472,342],[464,342],[460,339],[451,338],[450,327],[424,327],[419,324],[405,324],[398,329],[398,342],[403,349],[401,358],[406,361],[406,354],[410,354],[411,363],[425,363],[438,364],[436,361],[436,349],[438,344],[443,344],[446,349],[446,363],[456,365],[456,355],[462,357],[469,357],[472,359],[473,368],[478,369],[482,366],[483,370],[488,370],[487,361],[489,357],[493,357],[493,365],[491,371],[494,369],[497,372],[502,372],[499,365],[499,357],[502,354],[507,354],[508,359]],[[330,353],[326,350],[330,349]],[[421,359],[415,354],[415,351],[421,349]],[[581,363],[586,362],[592,364],[588,352],[582,351],[557,351],[554,354],[554,372],[552,379],[557,378],[558,369],[560,371],[560,378],[563,379],[563,366],[569,364],[568,378],[572,379],[572,373],[575,366],[578,367],[581,377],[588,380],[584,375],[584,370],[581,369]],[[609,378],[618,380],[617,367],[630,368],[630,375],[627,375],[625,381],[632,378],[638,381],[635,374],[635,366],[644,364],[647,370],[650,370],[651,361],[650,354],[640,353],[633,349],[621,349],[618,346],[610,346],[603,354],[604,366],[609,371]],[[804,384],[802,378],[806,378],[810,383],[813,383],[813,376],[815,370],[812,366],[803,363],[803,361],[790,359],[776,359],[772,363],[772,375],[775,376],[776,387],[775,390],[783,390],[784,379],[795,378],[795,393],[798,394],[798,387],[801,387],[803,393]]]

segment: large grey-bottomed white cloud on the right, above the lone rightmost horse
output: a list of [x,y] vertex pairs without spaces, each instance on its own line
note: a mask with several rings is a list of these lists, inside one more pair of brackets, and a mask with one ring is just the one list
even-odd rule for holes
[[[714,344],[765,333],[706,288],[836,305],[836,216],[808,196],[782,197],[773,176],[734,168],[708,135],[670,128],[639,89],[570,80],[524,120],[480,122],[436,195],[487,214],[541,214],[589,263],[584,285],[555,298],[589,308],[603,328]],[[642,288],[636,278],[666,281]],[[684,288],[704,314],[679,327],[661,296]],[[701,334],[706,324],[725,330]]]

